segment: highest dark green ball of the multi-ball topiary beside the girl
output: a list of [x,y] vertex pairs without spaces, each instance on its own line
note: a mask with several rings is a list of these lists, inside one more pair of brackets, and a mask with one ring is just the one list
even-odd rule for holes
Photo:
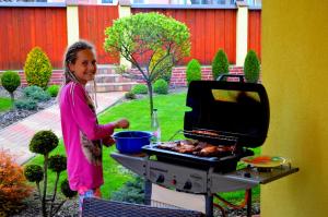
[[30,150],[42,155],[47,155],[58,146],[58,137],[52,131],[39,131],[30,142]]

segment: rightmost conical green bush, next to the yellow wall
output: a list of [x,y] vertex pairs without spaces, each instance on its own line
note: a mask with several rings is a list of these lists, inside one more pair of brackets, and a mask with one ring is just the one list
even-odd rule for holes
[[244,62],[245,79],[249,83],[257,83],[260,73],[260,62],[254,50],[249,50]]

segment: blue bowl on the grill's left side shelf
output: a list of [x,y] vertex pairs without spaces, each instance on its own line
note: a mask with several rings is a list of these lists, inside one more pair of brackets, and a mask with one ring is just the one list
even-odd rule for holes
[[122,154],[137,154],[141,147],[149,145],[152,134],[144,131],[122,131],[113,135],[116,148]]

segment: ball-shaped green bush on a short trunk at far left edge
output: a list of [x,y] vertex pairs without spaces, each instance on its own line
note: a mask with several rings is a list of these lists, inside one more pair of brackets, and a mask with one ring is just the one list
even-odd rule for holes
[[14,91],[21,85],[21,77],[17,72],[5,71],[1,75],[1,85],[9,92],[11,104],[14,105]]

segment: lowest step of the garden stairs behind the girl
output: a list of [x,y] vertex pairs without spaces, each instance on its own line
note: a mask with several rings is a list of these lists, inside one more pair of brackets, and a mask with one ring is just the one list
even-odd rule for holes
[[[137,82],[125,82],[125,83],[97,83],[96,89],[97,93],[105,93],[105,92],[129,92]],[[86,85],[87,89],[92,91],[91,85]]]

